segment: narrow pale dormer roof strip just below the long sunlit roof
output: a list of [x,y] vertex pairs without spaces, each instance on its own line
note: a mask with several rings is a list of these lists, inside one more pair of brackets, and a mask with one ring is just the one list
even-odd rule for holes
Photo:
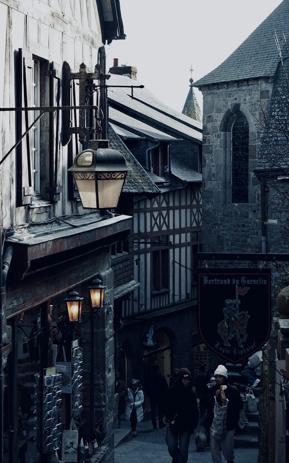
[[180,138],[171,137],[167,133],[157,130],[151,125],[144,124],[144,122],[141,122],[138,119],[128,116],[127,114],[122,113],[121,111],[118,111],[117,109],[114,109],[112,107],[109,108],[108,116],[109,116],[109,121],[114,124],[113,128],[119,136],[122,135],[121,129],[124,129],[124,127],[127,127],[128,129],[130,129],[130,131],[132,131],[136,135],[140,137],[144,136],[145,138],[148,138],[155,142],[156,141],[172,142],[172,141],[177,141],[180,139]]

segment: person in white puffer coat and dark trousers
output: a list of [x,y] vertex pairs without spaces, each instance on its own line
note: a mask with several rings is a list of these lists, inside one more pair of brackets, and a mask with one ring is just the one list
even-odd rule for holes
[[127,389],[125,411],[126,421],[131,422],[132,437],[137,436],[137,423],[144,419],[143,403],[144,393],[142,391],[142,385],[138,379],[133,379],[130,387]]

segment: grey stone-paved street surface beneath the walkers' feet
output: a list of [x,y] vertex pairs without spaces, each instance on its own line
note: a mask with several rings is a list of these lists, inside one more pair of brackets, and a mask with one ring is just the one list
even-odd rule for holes
[[[142,421],[138,423],[138,435],[136,438],[122,442],[118,442],[118,435],[125,436],[130,431],[130,423],[121,423],[121,429],[115,430],[115,449],[114,463],[171,463],[171,457],[165,443],[166,428],[157,429],[151,432],[151,421]],[[199,426],[195,432],[201,431],[203,428]],[[257,463],[258,449],[256,448],[238,448],[235,450],[234,463]],[[207,447],[202,452],[196,451],[195,436],[191,436],[188,463],[211,463],[211,451]],[[225,462],[223,458],[223,462]]]

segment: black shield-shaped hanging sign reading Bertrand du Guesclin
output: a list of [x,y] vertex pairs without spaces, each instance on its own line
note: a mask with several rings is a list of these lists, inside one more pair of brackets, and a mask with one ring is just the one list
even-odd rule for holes
[[270,334],[270,269],[198,269],[198,306],[204,343],[240,362]]

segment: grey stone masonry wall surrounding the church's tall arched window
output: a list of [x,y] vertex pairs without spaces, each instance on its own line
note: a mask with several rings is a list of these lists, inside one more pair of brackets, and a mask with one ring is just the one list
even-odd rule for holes
[[[219,84],[203,93],[202,250],[261,251],[258,179],[253,173],[260,148],[258,127],[272,83]],[[231,203],[231,128],[244,115],[249,124],[249,202]]]

